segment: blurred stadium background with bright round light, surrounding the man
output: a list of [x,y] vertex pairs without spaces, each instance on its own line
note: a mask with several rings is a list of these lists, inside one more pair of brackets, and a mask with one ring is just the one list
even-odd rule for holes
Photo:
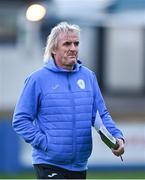
[[145,178],[145,0],[0,1],[0,178],[34,177],[31,147],[13,131],[12,115],[60,21],[81,27],[79,57],[96,73],[126,138],[121,162],[93,130],[88,178],[115,178],[116,172],[118,178]]

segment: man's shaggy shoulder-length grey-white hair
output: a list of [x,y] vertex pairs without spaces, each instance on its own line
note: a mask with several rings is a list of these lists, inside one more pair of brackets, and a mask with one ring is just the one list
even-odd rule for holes
[[52,28],[51,33],[47,37],[47,43],[43,56],[44,63],[47,63],[49,58],[53,57],[52,50],[57,47],[58,36],[61,32],[76,32],[80,36],[80,27],[75,24],[68,24],[67,22],[61,22]]

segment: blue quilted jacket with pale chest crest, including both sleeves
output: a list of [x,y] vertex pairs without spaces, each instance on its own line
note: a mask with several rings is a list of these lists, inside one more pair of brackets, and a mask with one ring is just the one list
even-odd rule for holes
[[33,147],[33,164],[52,164],[74,171],[87,168],[92,151],[91,126],[97,110],[110,133],[115,127],[92,71],[78,61],[74,70],[50,59],[25,81],[13,116],[13,128]]

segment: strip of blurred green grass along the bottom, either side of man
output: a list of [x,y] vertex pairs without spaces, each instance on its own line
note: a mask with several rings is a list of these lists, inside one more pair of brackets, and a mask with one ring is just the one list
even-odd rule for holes
[[[0,174],[0,179],[36,179],[33,172]],[[87,179],[145,179],[144,171],[88,171]]]

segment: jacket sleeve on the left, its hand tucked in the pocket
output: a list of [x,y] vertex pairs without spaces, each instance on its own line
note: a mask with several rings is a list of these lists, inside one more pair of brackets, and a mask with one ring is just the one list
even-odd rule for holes
[[14,130],[33,147],[47,149],[46,136],[35,126],[41,90],[32,78],[25,81],[21,96],[15,107],[12,126]]

